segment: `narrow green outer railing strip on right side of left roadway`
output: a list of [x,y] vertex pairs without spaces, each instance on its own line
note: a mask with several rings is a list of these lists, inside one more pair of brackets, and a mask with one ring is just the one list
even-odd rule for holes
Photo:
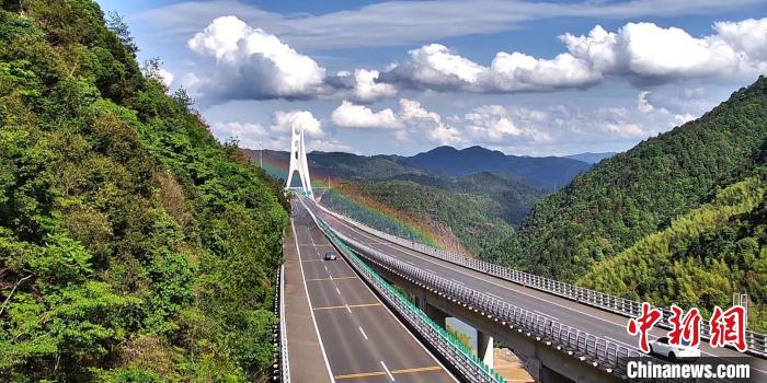
[[381,286],[384,286],[388,291],[390,291],[400,302],[402,302],[412,313],[417,315],[424,323],[426,323],[432,329],[436,330],[437,334],[439,334],[443,338],[445,338],[448,344],[456,349],[460,350],[467,359],[469,359],[476,367],[478,367],[481,371],[485,372],[488,375],[490,375],[495,382],[497,383],[505,383],[506,381],[495,372],[492,368],[488,367],[488,364],[484,364],[484,362],[479,359],[470,348],[466,347],[462,343],[460,343],[458,339],[456,339],[453,335],[450,335],[446,329],[442,328],[438,324],[436,324],[434,321],[432,321],[426,313],[421,311],[413,302],[408,300],[404,295],[402,295],[397,289],[394,289],[391,285],[389,285],[381,276],[378,275],[364,259],[362,259],[357,254],[346,245],[346,243],[341,240],[339,236],[335,235],[332,229],[328,227],[328,224],[322,221],[318,220],[320,223],[320,227],[322,231],[331,236],[335,244],[341,248],[346,256],[351,257],[354,259],[358,265],[362,265],[362,267],[367,270],[373,278],[375,278],[378,282],[380,282]]

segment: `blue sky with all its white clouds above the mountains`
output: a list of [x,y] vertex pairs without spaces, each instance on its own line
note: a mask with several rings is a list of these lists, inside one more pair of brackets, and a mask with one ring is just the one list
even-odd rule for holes
[[767,72],[764,1],[99,1],[219,139],[622,151]]

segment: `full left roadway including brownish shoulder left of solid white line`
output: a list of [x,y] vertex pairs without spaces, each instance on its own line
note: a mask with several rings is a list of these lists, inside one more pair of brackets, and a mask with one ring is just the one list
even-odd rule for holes
[[357,277],[323,260],[332,246],[294,207],[286,265],[286,315],[295,382],[455,382]]

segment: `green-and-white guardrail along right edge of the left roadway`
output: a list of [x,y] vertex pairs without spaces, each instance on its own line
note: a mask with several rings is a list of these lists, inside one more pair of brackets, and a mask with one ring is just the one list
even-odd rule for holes
[[[301,204],[304,204],[304,201],[301,201]],[[472,383],[505,382],[503,376],[484,364],[470,349],[434,323],[423,311],[419,310],[412,302],[391,287],[391,285],[387,283],[347,246],[345,241],[341,239],[324,220],[314,216],[308,207],[306,208],[320,230],[322,230],[331,242],[333,242],[346,258],[350,259],[350,265],[373,286],[387,302],[388,306],[397,311],[410,327],[425,339],[465,381]]]

